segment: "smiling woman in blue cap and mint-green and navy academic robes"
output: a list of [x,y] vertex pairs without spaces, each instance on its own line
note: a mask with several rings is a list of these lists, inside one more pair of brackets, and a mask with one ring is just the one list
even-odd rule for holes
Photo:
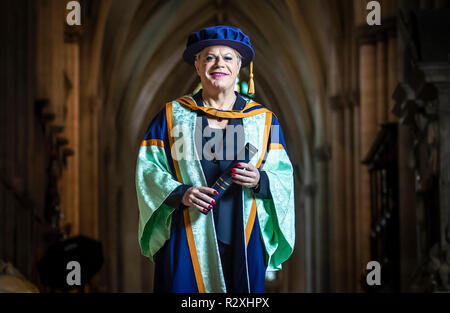
[[[141,144],[139,244],[155,262],[155,292],[263,292],[266,270],[281,269],[293,251],[293,170],[281,128],[234,91],[253,58],[238,28],[192,34],[183,59],[203,89],[167,103]],[[247,142],[256,154],[230,169]],[[215,198],[211,187],[228,170]]]

